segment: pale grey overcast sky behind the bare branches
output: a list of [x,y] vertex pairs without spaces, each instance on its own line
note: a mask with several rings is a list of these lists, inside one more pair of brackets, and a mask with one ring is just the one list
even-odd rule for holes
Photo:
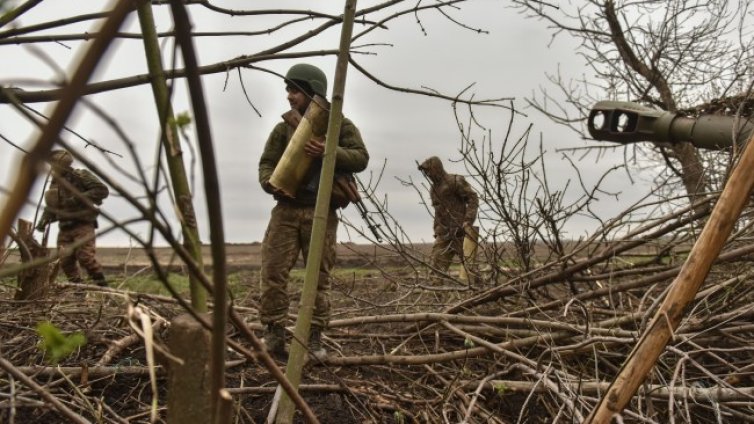
[[[274,8],[316,8],[317,11],[332,14],[342,13],[342,3],[300,2],[300,1],[212,1],[213,4],[242,9],[253,4],[259,9]],[[305,6],[301,6],[302,3]],[[39,22],[74,16],[81,13],[100,11],[104,2],[46,1],[31,12],[22,16],[15,24],[28,26]],[[376,2],[360,1],[358,8],[364,8]],[[405,5],[404,8],[413,6]],[[155,7],[158,31],[171,28],[167,7]],[[211,13],[199,6],[189,8],[196,31],[251,31],[270,26],[276,19],[270,16],[235,16]],[[524,97],[538,91],[540,87],[549,87],[546,73],[570,73],[574,77],[586,71],[579,58],[574,54],[574,46],[567,38],[561,37],[551,43],[551,33],[542,22],[527,20],[509,7],[506,1],[474,0],[460,4],[460,9],[453,11],[453,18],[471,28],[479,28],[488,33],[476,33],[460,28],[436,11],[420,15],[421,26],[416,16],[405,15],[392,21],[387,29],[372,31],[355,41],[354,45],[368,47],[360,51],[367,55],[356,56],[359,63],[369,72],[388,84],[406,88],[420,89],[426,87],[445,94],[460,93],[470,84],[473,87],[466,94],[474,94],[477,99],[510,97],[525,115],[519,115],[513,121],[512,134],[523,132],[533,125],[532,142],[540,139],[547,150],[546,167],[548,176],[555,184],[565,184],[573,178],[570,165],[562,160],[556,149],[566,147],[583,147],[585,141],[579,140],[572,132],[550,123],[534,110],[524,108]],[[377,19],[382,16],[369,16]],[[318,23],[317,23],[318,24]],[[200,65],[207,65],[229,60],[240,55],[253,54],[304,33],[314,27],[310,21],[274,32],[262,37],[203,37],[196,39]],[[125,30],[138,32],[138,20],[135,14],[127,21]],[[70,25],[49,30],[48,34],[80,33],[93,31],[95,24]],[[426,34],[422,31],[426,31]],[[3,28],[7,29],[7,28]],[[363,27],[357,26],[354,34]],[[292,51],[311,51],[334,49],[338,45],[340,27],[330,29],[316,40],[294,47]],[[171,46],[172,43],[167,43]],[[41,88],[39,82],[55,80],[55,72],[40,59],[40,52],[52,58],[57,66],[67,71],[72,69],[76,55],[80,53],[85,42],[64,42],[39,44],[34,51],[28,45],[3,45],[0,54],[6,60],[0,68],[0,83],[23,87],[26,90]],[[164,55],[170,61],[171,49]],[[12,60],[8,60],[12,58]],[[330,80],[328,92],[332,89],[335,57],[312,58],[305,60],[275,60],[258,63],[257,66],[284,74],[293,64],[301,61],[321,67]],[[98,70],[95,80],[109,80],[146,73],[143,47],[140,40],[124,39],[117,41],[109,52],[108,60]],[[264,193],[257,183],[257,163],[264,142],[280,115],[288,109],[284,85],[275,76],[268,73],[243,70],[243,87],[238,72],[214,74],[203,78],[205,95],[210,108],[212,135],[215,142],[217,161],[220,168],[221,196],[225,235],[228,242],[245,243],[261,241],[274,202]],[[155,119],[155,108],[151,89],[148,85],[112,91],[105,94],[88,96],[88,100],[107,111],[118,126],[134,143],[142,163],[153,163],[159,137],[159,125]],[[249,105],[249,101],[259,110],[261,117]],[[37,111],[47,113],[52,110],[49,104],[30,104]],[[176,85],[174,100],[176,111],[189,109],[185,96],[185,81]],[[349,67],[344,114],[351,118],[362,132],[371,155],[368,170],[361,174],[367,181],[382,174],[377,194],[388,200],[390,212],[396,217],[411,240],[415,242],[431,241],[431,217],[420,204],[416,191],[405,187],[399,180],[422,181],[416,170],[416,161],[436,155],[446,164],[450,172],[464,173],[463,166],[453,163],[459,159],[458,149],[461,134],[456,124],[453,109],[448,101],[412,94],[397,93],[380,87],[361,75],[355,68]],[[478,112],[477,118],[489,129],[493,140],[502,140],[508,131],[509,112],[502,109],[486,109]],[[133,170],[133,163],[123,140],[115,131],[102,121],[95,113],[79,106],[77,113],[68,126],[85,138],[100,146],[120,153],[124,158],[113,157],[115,164],[126,170]],[[0,105],[0,134],[11,142],[28,147],[34,141],[33,127],[26,122],[12,107]],[[193,127],[189,135],[195,138]],[[484,134],[478,134],[478,137]],[[65,139],[72,145],[83,148],[84,143],[71,135]],[[186,149],[188,153],[188,148]],[[83,151],[83,150],[82,150]],[[93,149],[84,151],[92,160],[102,161]],[[12,187],[17,172],[16,164],[22,153],[3,140],[0,140],[0,187],[7,190]],[[89,156],[91,155],[91,156]],[[588,161],[583,163],[587,175],[597,168],[606,168],[620,160],[606,157],[600,163]],[[190,156],[189,156],[190,157]],[[98,162],[103,163],[103,162]],[[580,166],[581,166],[580,165]],[[78,165],[74,165],[78,166]],[[194,168],[198,173],[198,165]],[[151,175],[153,169],[147,168]],[[593,172],[598,175],[598,172]],[[123,184],[129,180],[125,174],[113,171]],[[198,178],[198,177],[197,177]],[[626,184],[625,178],[615,176],[611,182],[617,190],[630,194],[634,189]],[[201,189],[201,180],[195,181],[196,207],[200,220],[203,240],[208,240],[206,209]],[[558,187],[554,188],[555,190]],[[35,204],[41,183],[35,187],[30,204]],[[0,201],[3,194],[0,194]],[[598,203],[602,213],[622,210],[630,201],[606,196]],[[113,196],[105,201],[108,213],[120,218],[133,218],[135,212],[122,199]],[[169,209],[168,209],[169,211]],[[169,211],[170,212],[170,211]],[[344,214],[351,221],[358,221],[357,211],[349,207]],[[33,208],[26,208],[21,216],[31,219]],[[583,235],[593,228],[593,221],[575,220],[569,224],[567,231],[572,236]],[[133,226],[135,231],[143,227]],[[349,239],[341,228],[340,241]],[[353,241],[362,239],[353,237]],[[128,236],[120,232],[102,235],[98,241],[101,246],[127,245]]]

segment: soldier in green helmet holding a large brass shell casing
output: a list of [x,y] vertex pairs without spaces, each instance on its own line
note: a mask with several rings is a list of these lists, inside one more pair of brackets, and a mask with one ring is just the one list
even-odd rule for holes
[[[292,66],[285,76],[285,83],[288,103],[301,115],[305,114],[315,95],[326,97],[327,77],[321,69],[313,65],[302,63]],[[290,304],[288,279],[299,254],[302,253],[306,260],[309,252],[314,206],[325,151],[323,140],[309,140],[304,151],[312,159],[312,164],[303,182],[295,196],[281,195],[273,189],[269,180],[293,132],[294,128],[290,124],[285,121],[278,123],[267,138],[259,160],[259,182],[277,201],[262,242],[262,295],[259,311],[260,321],[265,326],[265,344],[268,351],[276,356],[285,355],[285,321]],[[344,118],[338,139],[335,171],[361,172],[367,167],[368,162],[369,154],[358,128],[349,119]],[[327,217],[325,245],[309,340],[309,351],[319,358],[326,355],[321,337],[330,320],[329,275],[335,263],[337,230],[338,217],[335,209],[331,208]]]

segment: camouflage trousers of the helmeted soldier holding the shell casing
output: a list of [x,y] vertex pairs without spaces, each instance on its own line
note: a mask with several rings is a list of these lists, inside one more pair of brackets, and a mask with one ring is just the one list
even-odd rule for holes
[[[270,223],[262,241],[261,308],[262,324],[285,325],[290,304],[288,280],[293,266],[303,253],[309,255],[314,207],[278,203],[272,209]],[[322,262],[319,267],[317,297],[314,302],[312,325],[326,328],[330,322],[330,271],[335,264],[335,242],[338,217],[331,210],[327,217]]]

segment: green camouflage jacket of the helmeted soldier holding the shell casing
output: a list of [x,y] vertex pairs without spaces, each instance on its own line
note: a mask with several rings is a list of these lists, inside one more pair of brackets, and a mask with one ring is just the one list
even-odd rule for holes
[[[267,181],[270,180],[278,161],[283,156],[288,142],[293,136],[293,128],[285,122],[278,123],[267,138],[262,157],[259,158],[259,183],[265,191],[268,191]],[[335,172],[356,173],[366,169],[369,163],[367,152],[361,133],[356,125],[348,118],[343,118],[340,127],[340,138],[335,151]],[[301,206],[314,206],[319,189],[319,175],[322,170],[322,159],[315,159],[309,167],[301,187],[296,192],[296,197],[275,196],[279,202],[287,202]]]

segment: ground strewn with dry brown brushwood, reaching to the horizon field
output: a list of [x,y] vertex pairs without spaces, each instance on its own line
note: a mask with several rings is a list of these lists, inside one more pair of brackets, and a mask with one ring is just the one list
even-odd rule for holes
[[[331,356],[307,366],[304,398],[321,422],[581,421],[678,273],[691,240],[670,234],[678,234],[685,218],[648,222],[610,243],[571,243],[566,258],[539,257],[545,263],[527,272],[511,266],[515,256],[487,246],[480,255],[483,272],[470,286],[455,273],[442,286],[430,283],[426,267],[397,260],[394,247],[378,248],[375,257],[374,246],[341,245],[347,260],[334,282],[334,321],[326,337]],[[625,422],[751,416],[748,268],[754,247],[744,234],[720,255]],[[421,249],[413,253],[424,257]],[[496,268],[485,255],[507,258],[506,266]],[[115,284],[129,278],[110,276]],[[258,330],[254,266],[234,278],[248,290],[235,309]],[[182,312],[175,300],[95,287],[87,287],[84,300],[67,284],[44,301],[13,301],[12,293],[12,284],[3,286],[4,422],[67,422],[45,396],[89,420],[148,422],[144,342],[129,327],[127,305],[138,304],[164,339],[171,318]],[[61,368],[51,367],[37,347],[34,328],[41,321],[66,333],[82,331],[87,344]],[[237,330],[229,338],[250,347]],[[227,361],[238,422],[261,422],[275,380],[232,348]],[[158,379],[164,383],[162,368]],[[159,405],[165,397],[160,384]]]

